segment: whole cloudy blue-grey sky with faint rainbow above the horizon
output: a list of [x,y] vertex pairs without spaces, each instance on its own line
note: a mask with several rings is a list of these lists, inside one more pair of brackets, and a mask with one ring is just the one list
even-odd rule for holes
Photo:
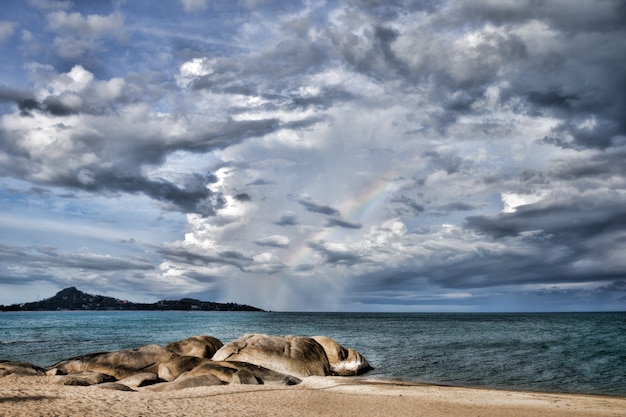
[[626,310],[621,0],[2,0],[0,304]]

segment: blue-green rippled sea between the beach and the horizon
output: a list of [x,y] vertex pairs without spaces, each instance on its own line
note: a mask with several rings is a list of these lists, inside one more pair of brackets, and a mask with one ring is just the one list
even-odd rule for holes
[[0,360],[47,367],[86,353],[193,335],[331,337],[363,354],[363,378],[626,397],[626,312],[285,313],[58,311],[0,313]]

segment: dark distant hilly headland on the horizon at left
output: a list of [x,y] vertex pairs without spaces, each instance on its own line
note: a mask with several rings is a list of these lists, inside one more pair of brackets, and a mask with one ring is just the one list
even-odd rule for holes
[[182,310],[182,311],[263,311],[260,308],[236,303],[215,303],[193,298],[161,300],[156,303],[133,303],[104,295],[92,295],[75,287],[65,288],[55,296],[32,303],[0,306],[0,311],[55,311],[55,310]]

